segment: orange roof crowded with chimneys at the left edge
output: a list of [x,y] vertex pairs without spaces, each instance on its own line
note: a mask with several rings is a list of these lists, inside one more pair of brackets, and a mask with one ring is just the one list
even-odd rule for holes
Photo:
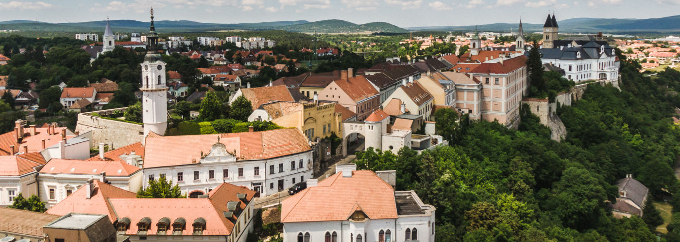
[[[55,134],[48,134],[47,127],[36,127],[35,135],[31,135],[29,127],[24,127],[24,136],[17,142],[14,131],[0,134],[0,155],[14,155],[18,152],[23,152],[23,146],[29,147],[29,153],[34,153],[42,150],[42,140],[45,140],[45,147],[53,146],[61,141],[61,133],[65,132],[65,127],[57,127],[54,129]],[[67,135],[66,138],[73,138],[73,135]],[[14,152],[10,154],[10,146],[14,145]]]

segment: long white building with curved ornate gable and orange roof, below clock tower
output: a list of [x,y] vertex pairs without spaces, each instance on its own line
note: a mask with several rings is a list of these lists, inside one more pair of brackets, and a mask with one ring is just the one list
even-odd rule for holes
[[[169,148],[186,144],[192,146]],[[144,148],[144,183],[165,176],[190,197],[207,194],[223,182],[271,195],[313,177],[312,150],[295,128],[149,136]]]

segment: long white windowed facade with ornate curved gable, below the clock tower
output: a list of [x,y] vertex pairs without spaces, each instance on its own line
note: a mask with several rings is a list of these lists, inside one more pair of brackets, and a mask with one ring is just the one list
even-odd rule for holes
[[[227,151],[231,152],[231,150]],[[266,196],[279,191],[279,180],[283,181],[281,190],[285,190],[298,182],[313,178],[312,159],[312,152],[309,150],[305,153],[274,159],[249,161],[224,159],[224,161],[214,162],[201,160],[201,163],[191,165],[146,168],[144,169],[144,186],[147,186],[150,176],[158,179],[161,174],[164,174],[163,176],[171,179],[173,184],[179,185],[182,193],[187,195],[196,190],[207,194],[209,190],[216,188],[222,182],[228,182],[237,186],[246,186]],[[302,167],[300,161],[303,163]],[[292,168],[292,162],[295,164],[294,168]],[[273,174],[271,174],[271,165],[274,168]],[[279,172],[279,165],[283,167],[282,172]],[[255,175],[256,167],[258,168],[257,176]],[[243,176],[239,176],[239,168],[243,168]],[[224,169],[228,170],[228,178],[224,178]],[[209,178],[210,171],[214,171],[214,178]],[[178,181],[177,178],[180,172],[182,181]],[[199,172],[199,179],[194,180],[194,172]]]

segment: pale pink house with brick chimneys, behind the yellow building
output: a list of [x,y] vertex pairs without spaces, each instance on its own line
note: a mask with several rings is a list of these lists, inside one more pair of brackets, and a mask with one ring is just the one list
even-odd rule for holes
[[357,121],[364,121],[380,107],[380,93],[365,76],[348,76],[341,71],[339,80],[328,84],[318,95],[322,100],[335,101],[356,113]]

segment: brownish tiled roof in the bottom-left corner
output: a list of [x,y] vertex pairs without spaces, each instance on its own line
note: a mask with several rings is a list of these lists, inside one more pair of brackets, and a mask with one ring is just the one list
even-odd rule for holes
[[[12,233],[31,237],[44,237],[43,226],[61,216],[35,211],[0,207],[0,234]],[[3,235],[4,236],[4,235]]]

